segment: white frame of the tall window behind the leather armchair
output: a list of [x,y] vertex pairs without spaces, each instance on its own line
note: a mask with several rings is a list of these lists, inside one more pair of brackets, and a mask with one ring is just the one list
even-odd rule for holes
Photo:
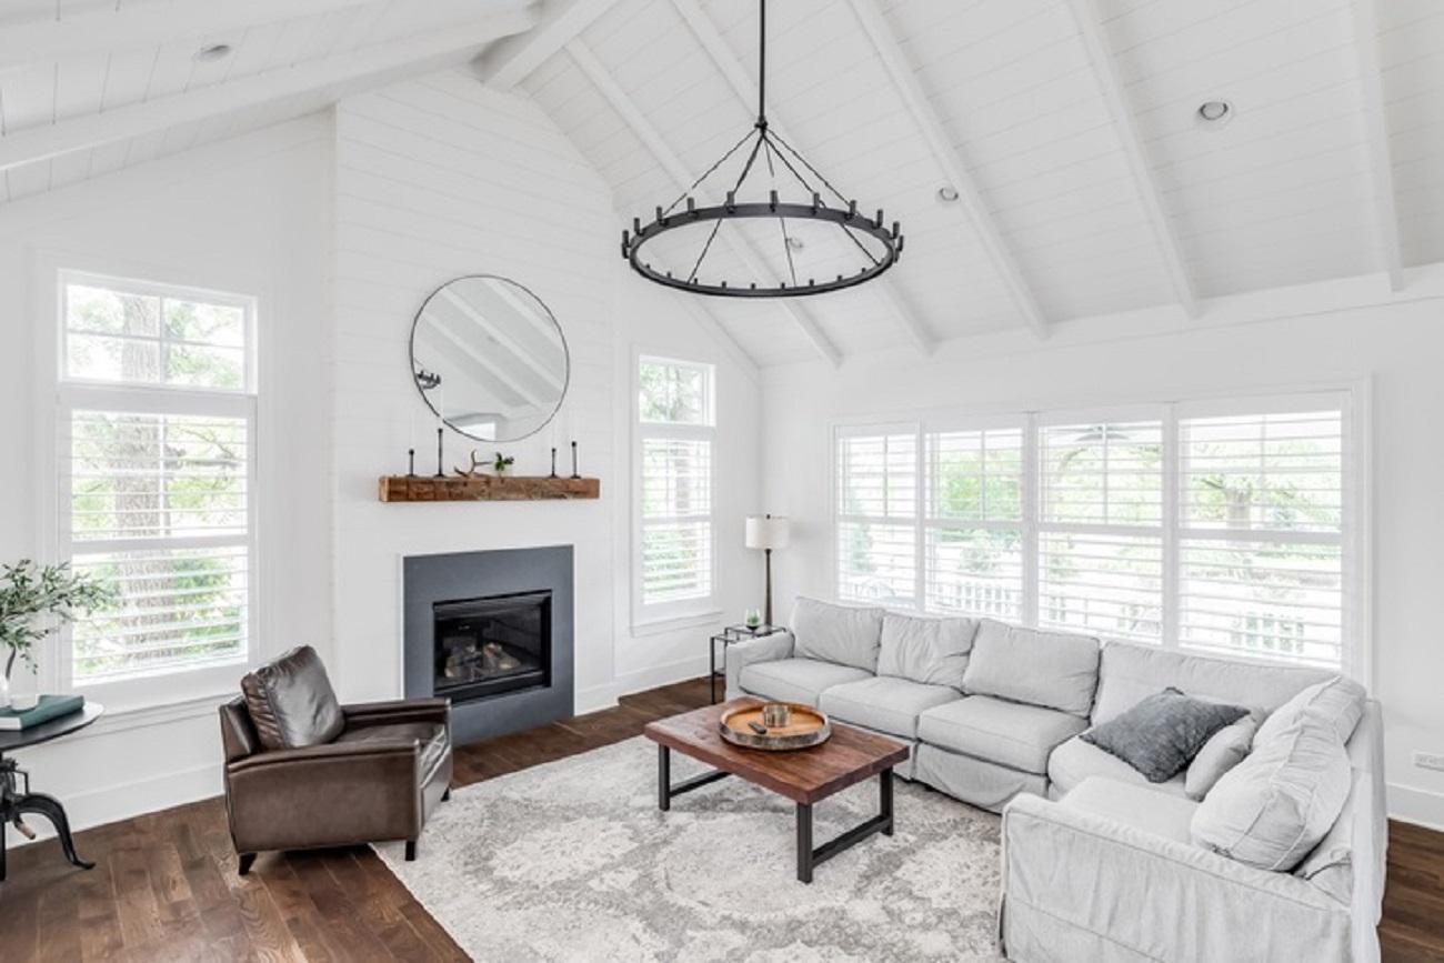
[[[247,424],[247,533],[243,539],[224,536],[209,539],[147,539],[144,547],[175,549],[175,547],[204,547],[212,543],[244,544],[247,552],[247,638],[240,654],[199,661],[195,666],[180,666],[149,673],[136,673],[114,679],[77,680],[74,674],[74,653],[71,631],[66,628],[56,634],[55,648],[49,664],[42,667],[46,683],[61,692],[82,692],[91,699],[105,702],[110,706],[123,709],[144,707],[157,703],[175,703],[186,699],[199,699],[215,693],[234,690],[237,668],[254,664],[258,657],[261,637],[261,566],[260,566],[260,485],[258,485],[258,313],[260,297],[254,295],[237,295],[208,287],[186,284],[160,283],[124,277],[118,273],[101,273],[79,270],[72,267],[51,267],[46,270],[53,280],[53,300],[42,306],[42,316],[49,315],[52,323],[52,338],[45,339],[52,347],[49,364],[52,372],[53,404],[49,417],[42,419],[40,430],[48,433],[51,452],[46,485],[53,491],[53,498],[48,500],[48,517],[53,524],[53,544],[56,557],[69,560],[81,552],[107,552],[118,549],[133,549],[134,543],[126,540],[114,541],[75,541],[71,533],[71,488],[69,474],[65,469],[69,458],[61,450],[62,432],[68,432],[72,413],[77,410],[124,411],[137,414],[196,414],[202,417],[235,417]],[[244,312],[245,323],[245,378],[240,388],[193,388],[191,385],[168,385],[165,383],[153,385],[117,384],[113,381],[98,381],[88,378],[74,378],[66,374],[66,286],[90,284],[110,290],[123,290],[146,296],[160,296],[175,300],[201,300],[212,305],[228,305]],[[46,310],[48,309],[48,310]],[[162,352],[166,339],[162,323]]]

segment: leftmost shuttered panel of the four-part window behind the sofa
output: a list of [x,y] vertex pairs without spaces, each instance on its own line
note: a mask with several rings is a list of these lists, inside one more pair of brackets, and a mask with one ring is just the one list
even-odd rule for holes
[[838,436],[838,595],[914,605],[918,520],[917,427]]

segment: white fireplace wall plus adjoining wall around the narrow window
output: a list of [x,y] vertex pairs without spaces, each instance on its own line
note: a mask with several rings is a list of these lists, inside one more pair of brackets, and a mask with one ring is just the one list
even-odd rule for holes
[[[757,387],[674,302],[627,274],[621,219],[591,165],[529,100],[484,90],[456,71],[344,101],[336,108],[335,628],[344,697],[401,690],[400,559],[406,554],[546,544],[576,547],[576,703],[696,676],[705,625],[632,638],[630,631],[630,445],[635,348],[715,361],[722,393],[719,527],[722,606],[745,608],[755,560],[741,543],[755,511]],[[448,468],[471,448],[546,474],[549,445],[580,445],[601,501],[381,504],[377,475],[435,471],[435,423],[407,370],[410,318],[458,274],[511,277],[552,309],[572,354],[557,432],[513,445],[448,432]]]

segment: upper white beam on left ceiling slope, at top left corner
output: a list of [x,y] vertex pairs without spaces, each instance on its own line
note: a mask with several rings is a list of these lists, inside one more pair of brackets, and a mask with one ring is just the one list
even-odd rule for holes
[[[160,46],[245,30],[277,20],[358,7],[371,0],[245,0],[245,3],[127,4],[6,25],[0,30],[0,71],[66,56],[136,46]],[[516,0],[488,0],[488,7],[516,9]]]

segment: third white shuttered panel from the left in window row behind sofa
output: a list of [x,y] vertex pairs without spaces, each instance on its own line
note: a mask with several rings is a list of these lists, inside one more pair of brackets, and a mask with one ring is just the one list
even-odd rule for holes
[[1038,624],[1160,641],[1162,422],[1045,424],[1038,471]]

